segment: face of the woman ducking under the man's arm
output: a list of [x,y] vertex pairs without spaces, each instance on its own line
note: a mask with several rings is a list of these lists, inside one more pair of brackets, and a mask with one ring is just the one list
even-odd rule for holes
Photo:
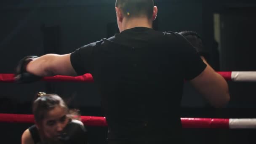
[[55,107],[50,110],[42,120],[42,131],[47,139],[58,140],[61,131],[68,123],[67,109],[64,107]]

